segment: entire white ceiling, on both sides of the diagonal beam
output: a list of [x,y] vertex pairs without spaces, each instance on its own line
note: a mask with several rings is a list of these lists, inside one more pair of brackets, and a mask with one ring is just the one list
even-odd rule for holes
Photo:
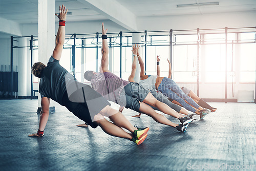
[[[225,12],[256,11],[256,0],[115,0],[127,8],[137,17],[174,16],[192,14],[210,14]],[[219,6],[183,7],[180,4],[194,4],[206,2],[219,2]],[[64,4],[72,15],[70,21],[78,20],[103,20],[106,16],[92,10],[84,3],[77,0],[56,0],[58,6]],[[20,24],[37,23],[38,0],[0,0],[0,17],[13,20]],[[1,27],[1,26],[0,26]]]

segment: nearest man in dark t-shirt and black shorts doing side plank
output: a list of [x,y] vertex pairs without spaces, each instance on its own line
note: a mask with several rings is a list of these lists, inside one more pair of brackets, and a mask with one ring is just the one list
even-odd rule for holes
[[[39,93],[41,94],[41,112],[37,133],[29,136],[42,137],[49,117],[50,99],[66,106],[79,119],[93,128],[98,125],[112,136],[129,139],[137,145],[141,144],[146,136],[148,127],[137,129],[120,112],[110,108],[110,103],[90,86],[78,82],[66,69],[59,65],[63,44],[65,41],[65,24],[68,9],[59,6],[59,28],[56,35],[56,46],[47,63],[36,62],[32,73],[40,78]],[[109,117],[113,122],[104,118]],[[121,127],[129,130],[126,133]]]

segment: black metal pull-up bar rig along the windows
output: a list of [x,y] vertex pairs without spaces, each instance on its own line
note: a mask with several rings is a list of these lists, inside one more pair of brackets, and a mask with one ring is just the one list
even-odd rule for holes
[[[173,46],[176,46],[176,41],[173,41],[173,36],[175,35],[188,35],[188,34],[191,34],[191,33],[186,33],[186,34],[174,34],[174,32],[197,32],[197,41],[196,43],[194,42],[193,44],[179,44],[179,45],[197,45],[197,95],[199,96],[199,50],[200,50],[200,45],[210,45],[208,43],[206,43],[205,41],[201,42],[201,38],[200,38],[200,35],[203,35],[203,34],[217,34],[217,33],[200,33],[200,31],[204,32],[204,31],[216,31],[216,30],[224,30],[225,32],[218,32],[219,34],[221,33],[225,33],[225,42],[223,42],[222,44],[225,44],[226,45],[226,50],[225,50],[225,61],[226,61],[226,66],[225,66],[225,102],[227,102],[227,45],[228,44],[243,44],[243,43],[256,43],[256,37],[254,38],[254,41],[253,42],[228,42],[228,39],[227,39],[227,34],[228,33],[244,33],[244,32],[228,32],[228,30],[232,30],[232,29],[256,29],[256,27],[240,27],[240,28],[216,28],[216,29],[190,29],[190,30],[165,30],[165,31],[144,31],[144,32],[119,32],[119,33],[108,33],[108,35],[113,35],[113,34],[118,34],[117,36],[115,36],[115,40],[112,42],[111,40],[114,38],[114,37],[111,37],[109,36],[110,38],[110,47],[112,47],[113,44],[116,44],[116,45],[119,45],[120,47],[120,77],[122,76],[122,47],[123,47],[123,43],[122,43],[122,37],[123,37],[123,34],[132,34],[132,33],[144,33],[143,37],[144,37],[144,41],[142,42],[139,42],[138,44],[139,45],[142,45],[144,46],[144,56],[145,56],[145,59],[144,59],[144,63],[145,63],[145,71],[146,71],[146,50],[147,50],[147,44],[150,42],[152,43],[152,39],[151,41],[147,41],[147,35],[148,33],[153,33],[153,34],[157,34],[157,33],[163,33],[163,32],[167,32],[168,36],[169,36],[169,42],[168,42],[168,46],[169,46],[169,51],[170,51],[170,54],[169,54],[169,60],[170,60],[170,63],[171,65],[173,65],[173,62],[172,62],[172,55],[173,55]],[[254,30],[255,32],[255,30]],[[195,34],[195,33],[194,33]],[[97,32],[96,34],[95,33],[90,33],[90,34],[67,34],[66,36],[70,36],[70,38],[67,40],[67,42],[65,43],[66,45],[70,45],[72,46],[72,72],[73,74],[75,74],[75,49],[76,49],[76,39],[77,39],[77,36],[80,36],[80,35],[95,35],[91,44],[96,44],[96,71],[98,72],[98,47],[99,47],[99,33]],[[151,35],[153,36],[153,35]],[[255,33],[255,36],[256,36],[256,33]],[[33,46],[33,40],[36,40],[34,39],[33,35],[31,36],[22,36],[22,37],[31,37],[30,39],[30,50],[31,50],[31,67],[32,67],[32,59],[33,59],[33,48],[34,47],[38,47],[38,46]],[[36,36],[35,36],[36,37]],[[120,37],[120,44],[118,44],[116,42],[117,38]],[[21,38],[21,37],[13,37],[11,36],[11,97],[12,97],[12,92],[13,92],[13,48],[28,48],[28,47],[17,47],[17,46],[13,46],[13,41],[17,41],[17,40],[14,40],[13,38]],[[74,42],[73,42],[73,45],[72,44],[68,44],[68,41],[70,39],[74,39]],[[86,48],[85,44],[84,44],[84,39],[86,38],[80,38],[82,39],[82,45],[80,48]],[[94,40],[96,39],[96,42],[93,42]],[[220,44],[220,43],[218,43]],[[65,48],[65,47],[64,47]],[[79,48],[79,47],[77,47]],[[255,84],[256,84],[256,80],[255,80]],[[31,74],[31,99],[32,99],[32,91],[33,91],[33,81],[32,81],[32,74]],[[255,86],[255,99],[254,99],[254,102],[256,103],[256,86]]]

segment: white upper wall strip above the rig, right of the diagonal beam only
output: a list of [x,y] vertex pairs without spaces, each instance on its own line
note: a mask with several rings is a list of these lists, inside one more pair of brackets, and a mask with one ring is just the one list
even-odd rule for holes
[[256,11],[203,15],[139,17],[137,25],[139,31],[255,27],[255,17]]

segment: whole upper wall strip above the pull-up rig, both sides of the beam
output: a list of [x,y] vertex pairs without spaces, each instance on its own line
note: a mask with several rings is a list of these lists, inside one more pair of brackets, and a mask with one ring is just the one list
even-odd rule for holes
[[[177,16],[154,16],[138,17],[138,31],[155,31],[155,30],[185,30],[185,29],[212,29],[225,27],[255,27],[256,11],[237,12],[237,13],[220,13],[204,15],[177,15]],[[57,20],[56,20],[57,22]],[[87,22],[69,22],[67,18],[66,34],[83,34],[83,33],[101,33],[101,23],[104,22],[108,32],[130,32],[119,26],[111,20],[98,20]],[[58,23],[56,23],[56,32]],[[37,24],[22,25],[24,36],[38,35]]]

